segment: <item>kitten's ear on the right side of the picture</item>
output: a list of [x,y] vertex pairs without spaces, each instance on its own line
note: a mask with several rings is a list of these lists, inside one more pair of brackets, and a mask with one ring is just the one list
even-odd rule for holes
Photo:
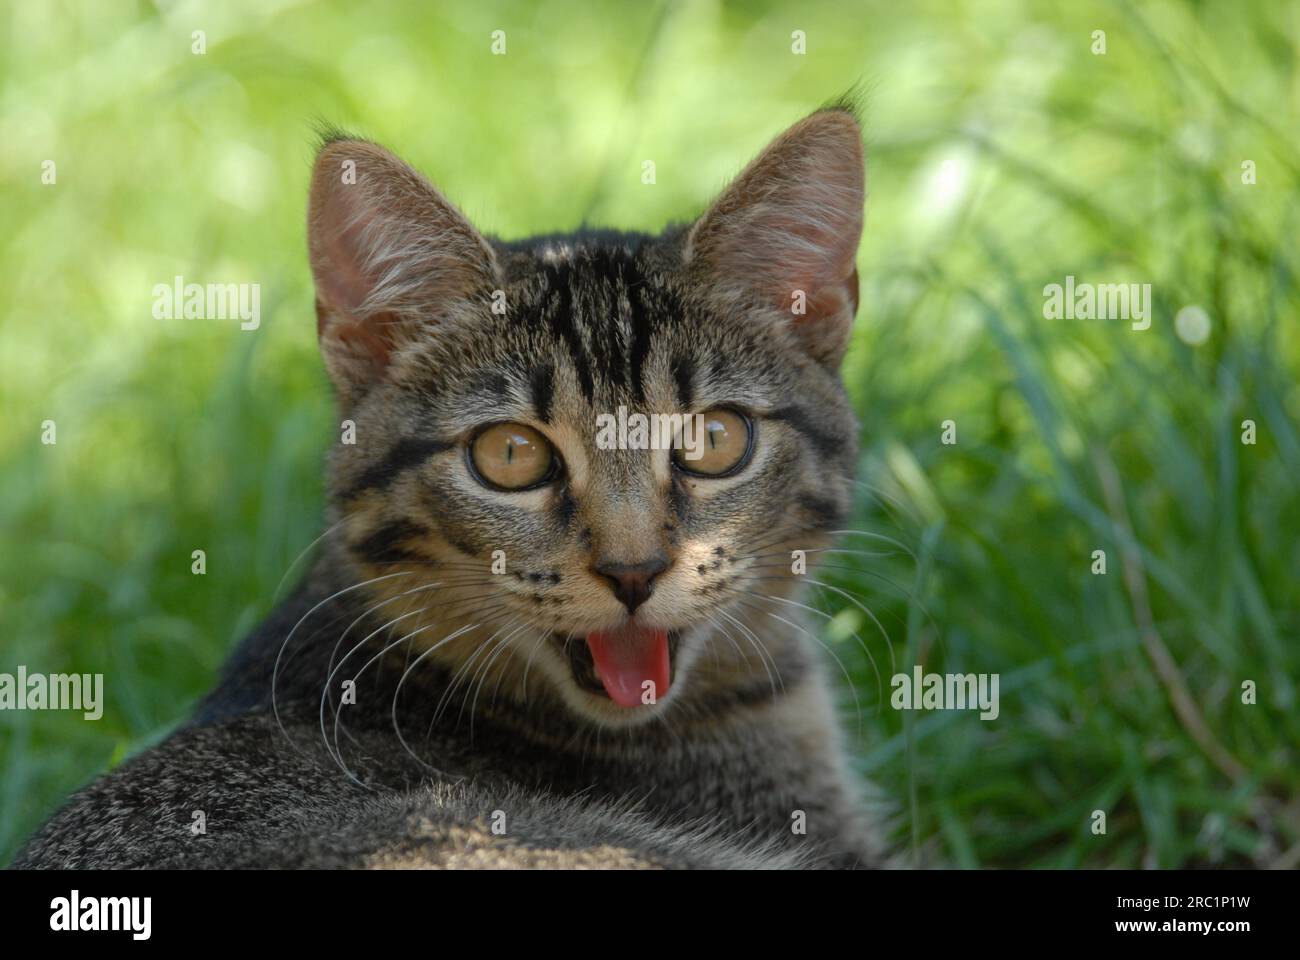
[[864,178],[853,113],[814,113],[776,138],[692,228],[692,272],[728,308],[783,312],[809,354],[837,366],[858,310]]

